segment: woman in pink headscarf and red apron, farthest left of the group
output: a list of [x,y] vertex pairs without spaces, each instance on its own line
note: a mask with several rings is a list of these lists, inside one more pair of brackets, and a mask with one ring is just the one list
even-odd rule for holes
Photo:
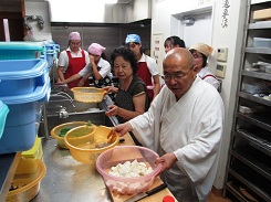
[[[77,74],[85,65],[90,63],[88,53],[81,49],[81,36],[79,32],[71,32],[69,35],[69,46],[62,51],[59,56],[58,76],[60,82]],[[88,77],[77,78],[67,84],[69,88],[81,86],[90,86]]]

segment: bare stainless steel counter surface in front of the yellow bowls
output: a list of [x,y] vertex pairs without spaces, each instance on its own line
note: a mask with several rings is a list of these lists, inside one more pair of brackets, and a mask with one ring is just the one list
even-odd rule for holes
[[94,167],[77,162],[69,150],[60,149],[55,139],[42,141],[46,174],[32,202],[107,202],[112,201],[103,178]]

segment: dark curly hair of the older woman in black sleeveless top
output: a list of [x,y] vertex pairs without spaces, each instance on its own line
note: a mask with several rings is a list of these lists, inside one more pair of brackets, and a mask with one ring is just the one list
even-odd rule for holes
[[112,67],[114,68],[114,62],[117,56],[122,56],[125,61],[131,63],[133,75],[136,75],[137,73],[137,61],[135,59],[135,54],[132,50],[129,50],[127,46],[118,46],[114,49],[114,51],[111,54],[111,61],[112,61]]

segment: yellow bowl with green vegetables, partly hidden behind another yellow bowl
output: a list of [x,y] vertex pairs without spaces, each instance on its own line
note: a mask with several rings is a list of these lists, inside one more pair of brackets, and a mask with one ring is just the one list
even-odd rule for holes
[[76,128],[79,126],[86,126],[87,123],[86,121],[73,121],[73,123],[65,123],[59,126],[55,126],[52,130],[51,130],[51,136],[56,140],[58,145],[63,148],[63,149],[67,149],[65,143],[64,143],[64,138],[60,137],[59,134],[63,128]]

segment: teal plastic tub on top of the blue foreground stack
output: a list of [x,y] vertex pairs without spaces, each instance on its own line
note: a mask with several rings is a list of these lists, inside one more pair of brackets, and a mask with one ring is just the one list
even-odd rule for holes
[[45,49],[42,42],[0,42],[0,60],[39,59]]

